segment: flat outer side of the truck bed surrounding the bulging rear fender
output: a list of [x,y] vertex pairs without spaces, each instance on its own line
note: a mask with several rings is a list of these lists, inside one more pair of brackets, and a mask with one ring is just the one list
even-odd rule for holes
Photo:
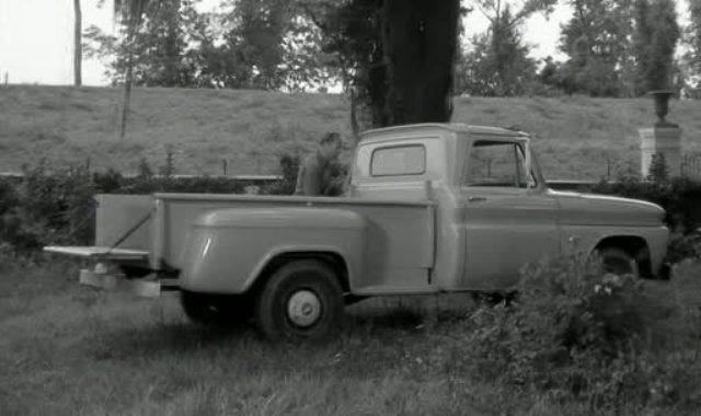
[[[348,209],[367,222],[364,275],[358,284],[401,285],[425,290],[434,265],[435,204],[361,198],[154,194],[152,258],[181,268],[188,226],[199,216],[231,208],[320,207]],[[280,229],[284,238],[285,229]],[[242,236],[244,238],[244,236]],[[369,286],[368,286],[369,287]]]

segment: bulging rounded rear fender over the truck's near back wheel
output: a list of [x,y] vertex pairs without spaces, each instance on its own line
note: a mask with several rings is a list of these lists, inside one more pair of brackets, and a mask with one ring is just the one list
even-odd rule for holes
[[361,269],[366,223],[356,212],[325,208],[226,209],[189,227],[180,286],[210,293],[243,293],[273,258],[285,253],[334,253]]

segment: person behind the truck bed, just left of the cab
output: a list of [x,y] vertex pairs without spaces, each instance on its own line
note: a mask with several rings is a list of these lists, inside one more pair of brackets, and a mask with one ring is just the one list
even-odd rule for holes
[[341,135],[326,134],[313,154],[307,157],[299,166],[295,195],[319,196],[325,194],[329,184],[326,171],[341,153]]

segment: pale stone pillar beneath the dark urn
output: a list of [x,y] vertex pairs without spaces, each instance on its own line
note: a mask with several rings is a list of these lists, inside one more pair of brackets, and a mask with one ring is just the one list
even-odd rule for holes
[[679,176],[681,169],[681,128],[664,126],[641,128],[641,173],[643,177],[650,175],[650,164],[655,153],[665,155],[665,164],[669,176]]

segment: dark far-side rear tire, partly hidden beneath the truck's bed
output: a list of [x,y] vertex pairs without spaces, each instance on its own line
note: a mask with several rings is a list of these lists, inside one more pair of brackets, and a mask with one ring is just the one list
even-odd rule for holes
[[187,317],[202,325],[231,326],[249,321],[253,314],[250,298],[243,294],[181,292]]

